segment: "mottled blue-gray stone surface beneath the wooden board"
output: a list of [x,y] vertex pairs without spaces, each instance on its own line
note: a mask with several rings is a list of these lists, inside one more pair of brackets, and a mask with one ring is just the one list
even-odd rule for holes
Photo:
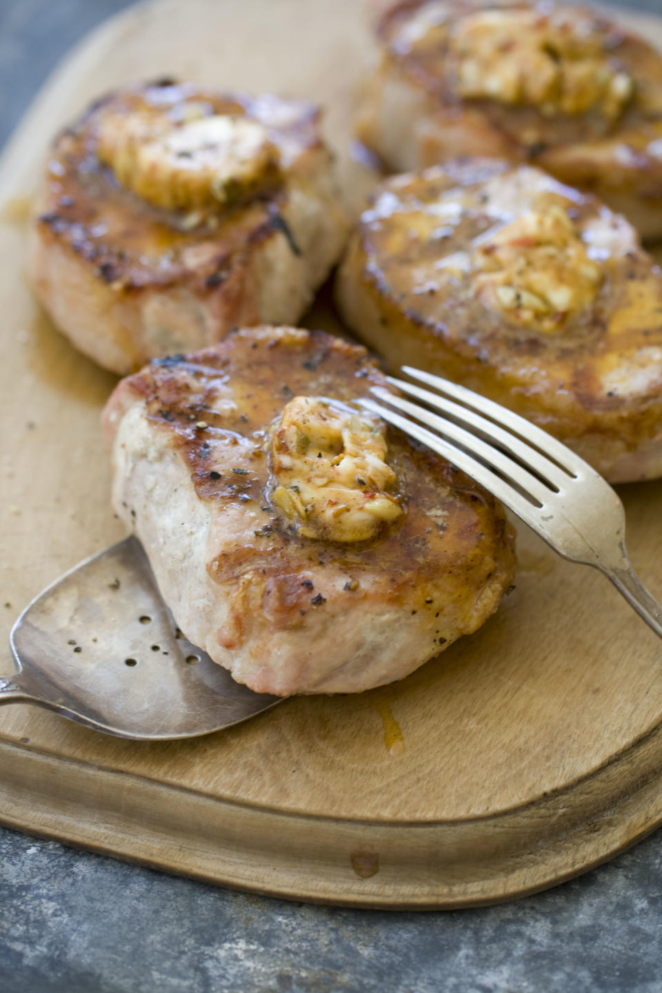
[[[0,143],[66,49],[123,6],[0,2]],[[661,864],[657,832],[518,903],[387,914],[231,893],[0,829],[0,993],[657,993]]]

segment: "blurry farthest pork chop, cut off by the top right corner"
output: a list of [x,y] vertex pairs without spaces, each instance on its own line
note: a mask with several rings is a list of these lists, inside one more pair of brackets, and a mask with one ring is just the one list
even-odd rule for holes
[[662,234],[662,56],[603,12],[398,0],[360,139],[395,172],[460,155],[531,162]]

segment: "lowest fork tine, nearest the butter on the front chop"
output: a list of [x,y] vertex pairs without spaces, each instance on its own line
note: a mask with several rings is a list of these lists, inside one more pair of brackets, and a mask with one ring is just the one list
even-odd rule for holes
[[488,490],[491,494],[505,503],[506,506],[521,517],[527,524],[529,524],[534,529],[539,529],[537,511],[533,503],[530,503],[526,497],[523,497],[518,493],[513,487],[510,486],[505,480],[502,480],[499,476],[496,476],[490,469],[483,466],[481,462],[477,459],[471,458],[466,452],[461,448],[456,448],[450,442],[445,441],[438,435],[428,431],[427,428],[422,427],[420,424],[415,424],[408,418],[403,417],[401,414],[396,413],[394,410],[389,410],[388,407],[382,406],[380,403],[376,403],[374,400],[370,400],[367,397],[361,398],[359,401],[362,407],[367,410],[371,410],[373,413],[378,414],[383,420],[388,421],[396,428],[400,428],[405,434],[412,438],[416,438],[417,441],[422,442],[431,448],[433,452],[437,452],[444,459],[448,459],[454,466],[458,466],[462,469],[467,476],[470,476],[472,480],[479,483],[481,486]]

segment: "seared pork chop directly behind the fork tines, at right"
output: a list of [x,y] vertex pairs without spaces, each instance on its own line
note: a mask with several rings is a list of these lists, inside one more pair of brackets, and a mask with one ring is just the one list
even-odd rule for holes
[[392,369],[491,397],[612,482],[662,475],[662,273],[595,198],[493,160],[395,177],[361,217],[337,299]]

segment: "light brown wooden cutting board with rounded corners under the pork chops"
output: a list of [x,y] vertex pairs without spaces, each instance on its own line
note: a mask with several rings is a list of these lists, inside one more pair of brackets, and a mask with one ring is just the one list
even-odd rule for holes
[[[643,23],[662,43],[661,24]],[[161,0],[84,41],[7,148],[0,672],[25,604],[121,536],[98,424],[115,379],[66,344],[23,277],[49,138],[106,88],[166,73],[312,97],[355,200],[370,177],[346,149],[369,58],[356,0]],[[324,295],[305,323],[336,327]],[[632,559],[660,595],[662,483],[621,496]],[[497,615],[394,686],[292,699],[169,744],[2,708],[0,819],[199,879],[366,907],[496,902],[607,859],[662,820],[662,645],[605,580],[519,531],[517,587]]]

